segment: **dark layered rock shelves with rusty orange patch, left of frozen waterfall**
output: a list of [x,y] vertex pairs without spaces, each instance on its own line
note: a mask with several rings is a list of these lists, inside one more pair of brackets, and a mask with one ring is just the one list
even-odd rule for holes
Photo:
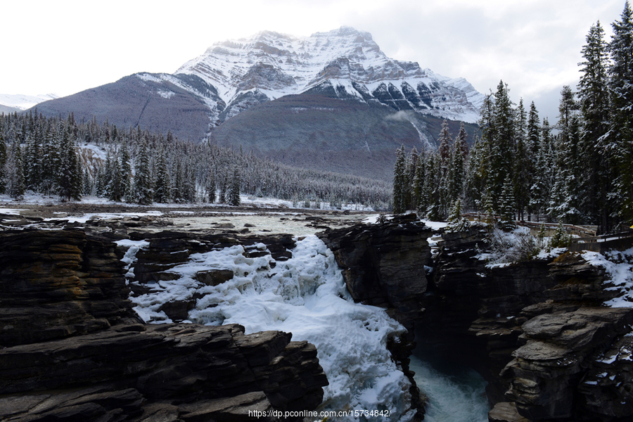
[[252,412],[321,403],[316,349],[290,333],[137,324],[104,238],[26,230],[0,245],[2,421],[271,421]]

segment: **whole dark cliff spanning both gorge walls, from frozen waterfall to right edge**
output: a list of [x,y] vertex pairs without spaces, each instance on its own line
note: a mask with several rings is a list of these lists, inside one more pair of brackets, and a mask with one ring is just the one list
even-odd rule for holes
[[603,268],[573,253],[487,265],[478,228],[443,234],[431,260],[428,236],[411,215],[321,234],[355,300],[485,376],[490,421],[631,420],[633,309],[603,305],[618,295]]

